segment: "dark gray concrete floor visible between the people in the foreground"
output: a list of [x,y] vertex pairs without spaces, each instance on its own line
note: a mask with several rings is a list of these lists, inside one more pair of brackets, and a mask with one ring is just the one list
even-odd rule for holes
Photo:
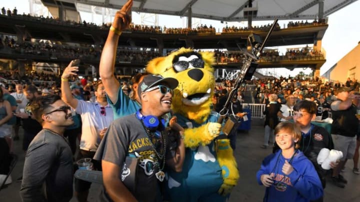
[[[261,149],[263,141],[263,120],[252,120],[251,130],[240,131],[237,136],[236,150],[234,152],[239,168],[240,179],[233,189],[229,202],[262,202],[264,187],[256,183],[255,174],[261,165],[262,159],[271,153],[271,148]],[[20,134],[21,130],[20,130]],[[21,140],[14,142],[14,152],[18,155],[18,162],[11,176],[13,183],[0,191],[0,202],[21,202],[18,191],[20,183],[15,180],[21,175],[24,154],[21,151]],[[324,202],[360,202],[360,175],[352,173],[353,162],[346,164],[343,176],[348,180],[344,189],[333,186],[327,180]],[[100,186],[93,184],[90,189],[88,202],[95,202]],[[73,198],[71,202],[76,202]]]

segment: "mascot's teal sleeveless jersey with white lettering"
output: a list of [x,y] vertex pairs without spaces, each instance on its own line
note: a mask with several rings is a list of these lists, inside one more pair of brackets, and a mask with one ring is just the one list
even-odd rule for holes
[[[175,116],[183,128],[197,128],[207,122],[216,122],[218,113],[211,112],[201,125],[180,114]],[[223,179],[214,141],[205,146],[186,148],[185,154],[182,172],[167,173],[166,190],[171,202],[224,202],[226,198],[217,194]]]

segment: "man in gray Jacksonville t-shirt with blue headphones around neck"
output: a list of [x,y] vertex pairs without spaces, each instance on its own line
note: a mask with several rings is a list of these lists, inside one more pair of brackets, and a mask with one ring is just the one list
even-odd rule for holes
[[[142,109],[109,126],[94,156],[102,164],[101,201],[156,202],[161,198],[158,181],[163,181],[164,166],[181,171],[183,129],[171,119],[170,128],[179,132],[172,136],[161,119],[170,111],[172,89],[177,84],[174,78],[144,76],[138,86]],[[134,169],[129,158],[135,161]],[[132,177],[136,180],[127,183]]]

